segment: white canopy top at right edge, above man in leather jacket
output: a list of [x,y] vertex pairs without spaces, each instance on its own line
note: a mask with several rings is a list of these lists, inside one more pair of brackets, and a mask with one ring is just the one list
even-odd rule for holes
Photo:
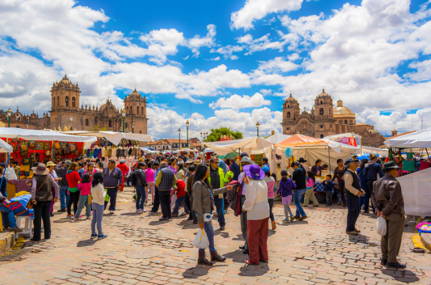
[[431,147],[431,128],[385,140],[388,147],[423,149]]

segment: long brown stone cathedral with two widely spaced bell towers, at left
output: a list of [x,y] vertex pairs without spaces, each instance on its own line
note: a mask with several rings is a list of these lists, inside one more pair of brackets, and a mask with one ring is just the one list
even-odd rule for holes
[[[147,134],[146,98],[136,91],[126,95],[124,98],[124,109],[115,107],[109,98],[100,108],[94,105],[84,107],[80,105],[80,90],[78,83],[74,84],[64,76],[59,82],[52,84],[51,88],[51,110],[44,112],[39,118],[38,114],[21,114],[18,107],[12,112],[10,127],[21,127],[27,129],[56,129],[56,130],[78,130],[95,131],[106,129],[108,131],[122,131],[123,116],[126,131],[135,134]],[[8,117],[6,112],[0,111],[0,120],[6,125]]]

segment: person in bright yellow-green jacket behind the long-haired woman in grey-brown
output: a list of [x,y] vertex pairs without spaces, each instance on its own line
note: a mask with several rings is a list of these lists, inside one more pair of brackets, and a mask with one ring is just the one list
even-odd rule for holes
[[[211,155],[210,159],[210,177],[208,178],[213,190],[225,187],[225,173],[219,167],[219,157],[217,154]],[[214,196],[214,204],[217,209],[217,220],[220,224],[220,231],[224,231],[226,227],[225,222],[225,203],[223,194]]]

